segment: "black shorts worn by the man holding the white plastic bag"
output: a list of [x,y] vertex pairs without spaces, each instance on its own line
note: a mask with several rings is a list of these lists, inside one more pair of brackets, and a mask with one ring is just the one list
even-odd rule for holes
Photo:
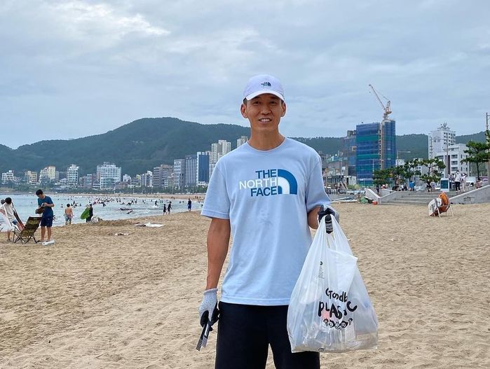
[[275,368],[320,369],[318,352],[291,353],[287,305],[255,306],[219,302],[216,369],[266,367],[271,345]]

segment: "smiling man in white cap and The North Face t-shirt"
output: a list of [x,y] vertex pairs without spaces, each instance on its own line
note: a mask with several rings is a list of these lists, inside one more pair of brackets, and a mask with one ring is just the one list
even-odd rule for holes
[[265,368],[270,344],[276,368],[317,369],[317,352],[291,353],[286,321],[311,245],[308,225],[318,228],[320,206],[330,202],[321,160],[313,148],[279,133],[286,103],[277,78],[252,77],[240,113],[250,122],[250,140],[217,162],[202,211],[212,220],[200,322],[214,323],[210,317],[233,232],[215,368]]

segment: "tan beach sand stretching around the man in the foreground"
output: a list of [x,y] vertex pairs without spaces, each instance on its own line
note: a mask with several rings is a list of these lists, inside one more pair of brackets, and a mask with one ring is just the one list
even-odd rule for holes
[[[321,354],[322,368],[490,368],[490,204],[441,219],[426,207],[337,208],[379,347]],[[54,229],[53,246],[2,233],[0,368],[212,368],[216,332],[195,349],[208,225],[194,211],[72,225]]]

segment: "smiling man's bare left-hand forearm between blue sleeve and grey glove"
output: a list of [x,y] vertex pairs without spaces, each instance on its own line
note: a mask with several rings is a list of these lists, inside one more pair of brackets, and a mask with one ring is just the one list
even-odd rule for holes
[[230,220],[212,218],[207,231],[207,280],[206,290],[217,288],[219,275],[228,253],[230,242]]

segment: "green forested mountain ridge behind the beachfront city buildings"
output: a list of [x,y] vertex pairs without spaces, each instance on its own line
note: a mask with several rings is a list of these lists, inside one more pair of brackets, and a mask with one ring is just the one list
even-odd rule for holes
[[[249,136],[250,128],[240,125],[202,125],[177,118],[143,118],[104,134],[72,140],[40,141],[13,150],[0,145],[0,172],[40,169],[47,165],[66,168],[75,163],[80,174],[95,172],[97,164],[114,162],[124,174],[140,174],[160,164],[172,164],[174,159],[196,151],[210,150],[218,139],[231,141],[232,148],[240,136]],[[294,138],[326,154],[343,148],[342,137]],[[470,139],[484,141],[484,132],[456,137],[457,142]],[[427,158],[426,134],[397,136],[399,157]]]

